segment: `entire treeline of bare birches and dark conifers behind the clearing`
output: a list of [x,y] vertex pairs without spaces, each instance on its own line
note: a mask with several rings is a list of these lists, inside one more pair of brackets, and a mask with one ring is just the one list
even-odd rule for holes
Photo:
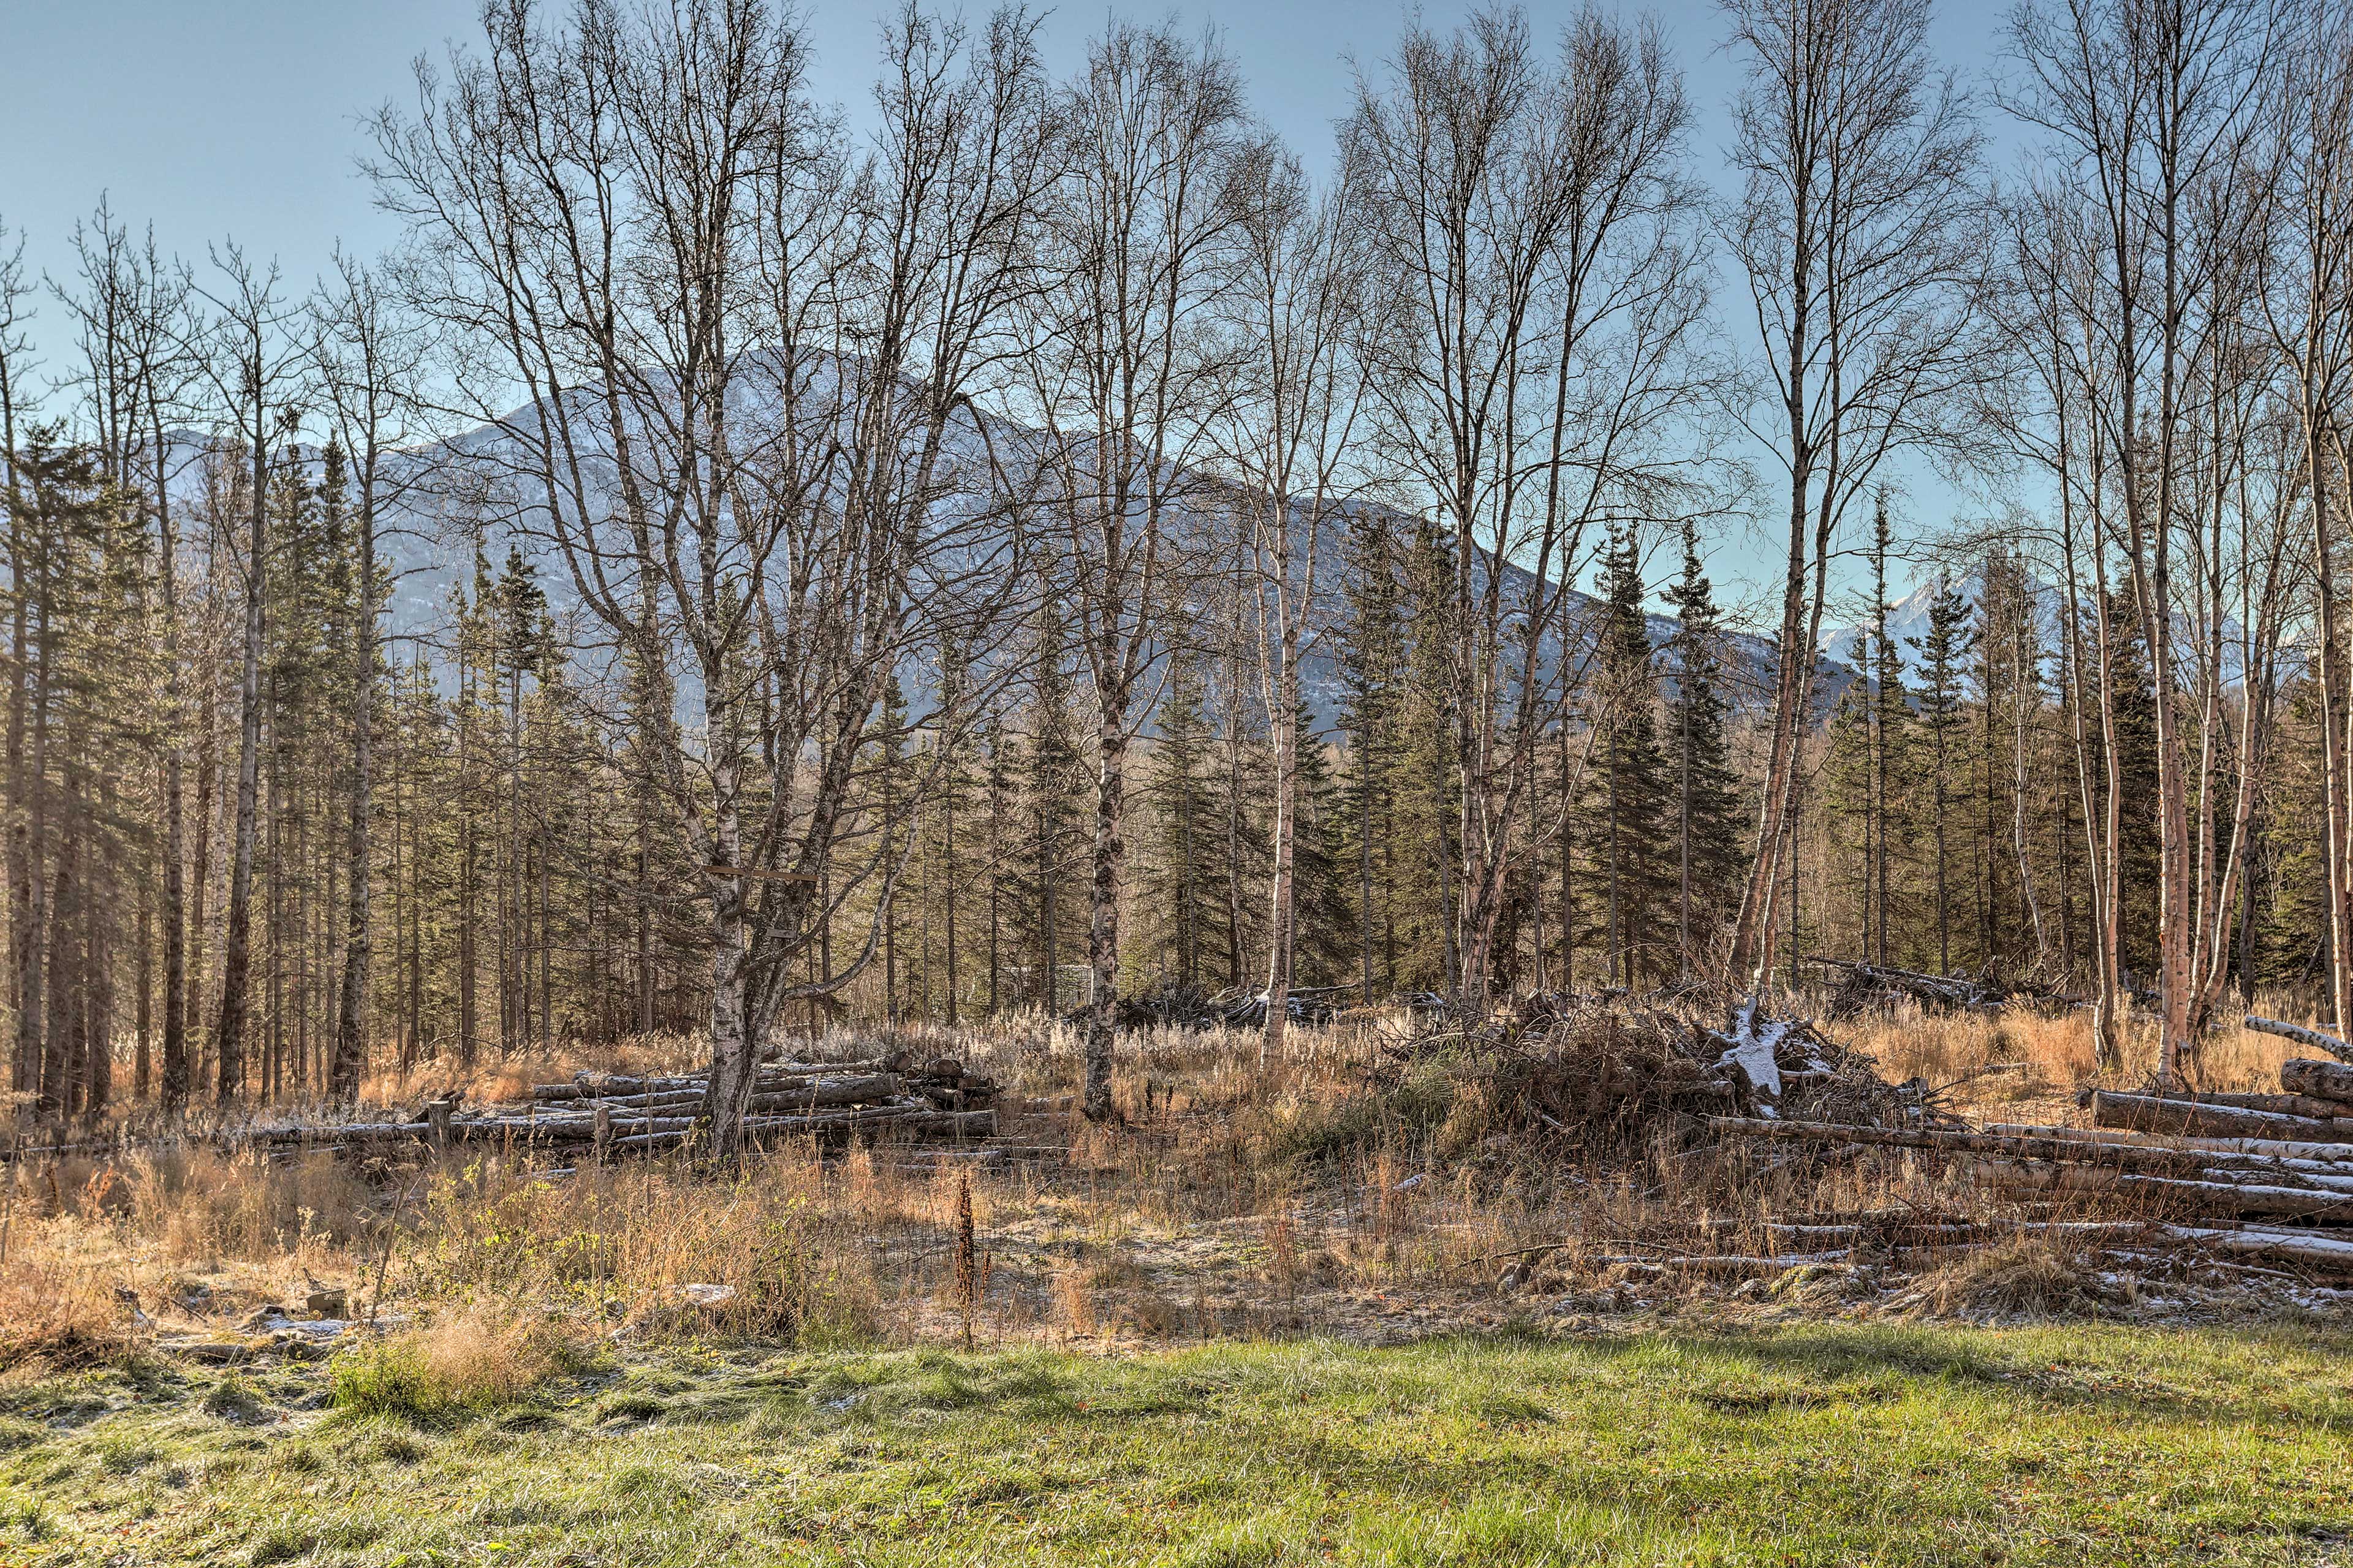
[[[2353,12],[487,0],[294,278],[0,240],[21,1123],[553,1041],[2033,982],[2353,1031]],[[0,212],[0,221],[7,214]],[[16,257],[12,264],[9,257]]]

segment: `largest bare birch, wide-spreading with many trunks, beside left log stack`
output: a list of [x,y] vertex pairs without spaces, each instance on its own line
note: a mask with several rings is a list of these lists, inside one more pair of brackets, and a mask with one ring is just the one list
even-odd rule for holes
[[[492,461],[609,638],[696,869],[671,902],[706,911],[704,1116],[729,1156],[772,1022],[864,970],[915,843],[913,810],[854,800],[885,687],[986,631],[1012,577],[972,396],[1052,179],[1035,26],[899,12],[856,158],[760,0],[485,21],[482,57],[379,122],[376,184],[419,299],[487,393],[525,393]],[[859,895],[868,930],[831,963]]]

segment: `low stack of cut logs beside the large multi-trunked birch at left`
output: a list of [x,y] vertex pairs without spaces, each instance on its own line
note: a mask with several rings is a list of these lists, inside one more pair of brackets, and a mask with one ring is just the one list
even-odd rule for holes
[[[527,1102],[424,1107],[424,1121],[254,1128],[264,1144],[576,1144],[586,1154],[647,1154],[685,1144],[696,1128],[708,1071],[666,1078],[591,1076],[541,1083]],[[847,1137],[981,1140],[995,1135],[995,1083],[962,1062],[776,1062],[753,1078],[746,1142]]]

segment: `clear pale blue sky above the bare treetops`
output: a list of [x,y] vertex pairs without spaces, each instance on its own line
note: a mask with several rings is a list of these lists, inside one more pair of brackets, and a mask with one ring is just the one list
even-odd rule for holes
[[[819,97],[852,108],[864,101],[889,9],[889,0],[807,5]],[[986,2],[965,9],[981,14]],[[1464,0],[1428,0],[1419,14],[1445,28],[1471,9]],[[1539,33],[1574,14],[1560,2],[1527,9]],[[1659,0],[1647,9],[1685,68],[1699,111],[1692,155],[1715,181],[1739,87],[1737,66],[1715,49],[1718,9],[1713,0]],[[1073,64],[1108,14],[1217,26],[1259,115],[1313,162],[1346,113],[1351,59],[1379,66],[1407,7],[1061,7],[1045,28],[1052,64]],[[325,271],[336,240],[365,257],[398,238],[353,170],[365,144],[360,115],[386,99],[407,104],[414,57],[471,42],[475,16],[478,0],[0,0],[0,224],[26,235],[33,271],[64,278],[75,219],[108,193],[118,221],[153,224],[162,250],[202,261],[207,242],[235,238],[254,257],[275,257],[301,292]],[[1998,31],[1995,7],[1941,0],[1932,38],[1946,66],[1979,73],[1993,64]],[[1725,285],[1739,287],[1729,278]],[[1725,320],[1737,323],[1729,292],[1725,306]],[[61,313],[54,304],[42,313],[35,341],[56,358]],[[1911,511],[1922,525],[1941,523],[1955,504],[1941,485],[1913,476]]]

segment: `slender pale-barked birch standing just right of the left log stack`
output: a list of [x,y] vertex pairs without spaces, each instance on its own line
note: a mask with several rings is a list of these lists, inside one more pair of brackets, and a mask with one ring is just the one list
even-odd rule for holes
[[[1188,563],[1214,504],[1202,464],[1231,377],[1214,313],[1231,287],[1249,144],[1233,61],[1174,26],[1113,24],[1061,104],[1056,271],[1033,306],[1026,410],[1059,511],[1054,570],[1071,591],[1094,699],[1087,878],[1087,1083],[1111,1107],[1127,866],[1127,758],[1148,713]],[[1052,989],[1047,991],[1052,996]]]

